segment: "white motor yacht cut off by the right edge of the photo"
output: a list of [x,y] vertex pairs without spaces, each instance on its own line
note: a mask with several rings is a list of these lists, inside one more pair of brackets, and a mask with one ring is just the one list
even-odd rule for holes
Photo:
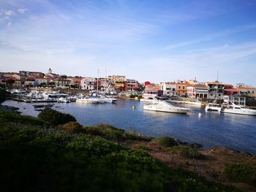
[[221,112],[233,113],[238,115],[256,115],[256,110],[248,109],[245,106],[232,104],[227,107],[222,107]]

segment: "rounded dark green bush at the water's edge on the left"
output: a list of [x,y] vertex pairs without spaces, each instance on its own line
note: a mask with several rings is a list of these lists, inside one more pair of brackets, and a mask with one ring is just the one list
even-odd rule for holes
[[49,107],[45,108],[45,110],[42,110],[42,112],[39,113],[38,117],[42,120],[46,120],[52,123],[55,126],[69,123],[70,121],[76,121],[76,119],[72,115],[52,110]]

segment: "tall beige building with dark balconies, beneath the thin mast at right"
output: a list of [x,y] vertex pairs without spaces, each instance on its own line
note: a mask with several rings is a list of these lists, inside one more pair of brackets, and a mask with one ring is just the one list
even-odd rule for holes
[[206,82],[208,87],[208,99],[223,99],[224,84],[222,82]]

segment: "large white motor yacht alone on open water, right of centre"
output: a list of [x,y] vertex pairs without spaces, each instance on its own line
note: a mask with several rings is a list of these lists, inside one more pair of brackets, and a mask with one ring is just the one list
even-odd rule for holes
[[157,112],[175,112],[175,113],[187,113],[190,110],[184,107],[176,107],[167,101],[157,101],[153,104],[145,104],[143,110],[157,111]]

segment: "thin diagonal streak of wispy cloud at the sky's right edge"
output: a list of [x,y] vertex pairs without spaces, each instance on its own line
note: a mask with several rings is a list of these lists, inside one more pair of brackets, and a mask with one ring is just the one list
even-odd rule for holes
[[215,39],[215,38],[218,38],[218,37],[225,37],[225,36],[228,36],[230,34],[236,34],[236,33],[240,33],[240,32],[243,32],[243,31],[249,31],[249,30],[254,29],[254,28],[256,28],[256,24],[246,25],[246,26],[238,26],[236,28],[230,28],[230,29],[227,29],[225,31],[219,31],[216,34],[209,34],[209,35],[206,35],[204,37],[197,38],[197,39],[191,39],[191,40],[184,41],[184,42],[178,42],[178,43],[173,44],[173,45],[167,45],[166,47],[163,48],[163,50],[171,50],[171,49],[174,49],[176,47],[183,47],[183,46],[192,45],[192,44],[196,44],[196,43],[200,43],[200,42],[206,42],[206,41],[209,41],[211,39]]

